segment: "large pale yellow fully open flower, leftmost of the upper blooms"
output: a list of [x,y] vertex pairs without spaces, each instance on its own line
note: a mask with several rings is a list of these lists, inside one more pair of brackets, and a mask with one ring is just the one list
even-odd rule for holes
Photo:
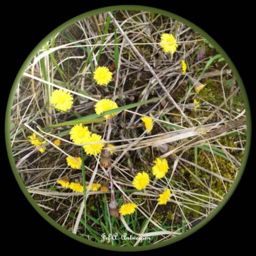
[[50,102],[59,111],[67,111],[72,108],[73,99],[69,92],[59,89],[52,92]]

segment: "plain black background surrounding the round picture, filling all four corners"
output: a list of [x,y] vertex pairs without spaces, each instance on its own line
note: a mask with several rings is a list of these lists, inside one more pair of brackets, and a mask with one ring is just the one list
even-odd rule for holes
[[[246,1],[232,3],[229,6],[225,6],[221,1],[158,2],[149,4],[146,1],[95,1],[93,6],[89,6],[86,1],[60,2],[56,6],[52,6],[52,2],[37,2],[36,5],[26,6],[24,3],[20,5],[15,3],[12,7],[4,7],[2,11],[7,14],[7,18],[2,21],[1,28],[3,44],[1,47],[1,92],[4,89],[0,101],[3,104],[2,112],[6,109],[9,90],[18,70],[32,49],[49,32],[65,21],[89,10],[120,4],[140,4],[164,9],[186,18],[206,31],[227,52],[239,70],[252,104],[255,98],[253,89],[256,87],[253,79],[255,64],[249,64],[249,61],[253,61],[255,57],[253,56],[253,52],[255,55],[255,43],[252,39],[255,27],[252,26],[251,17],[253,16],[250,15],[252,7],[247,5]],[[6,79],[5,82],[3,82],[4,79]],[[253,119],[252,105],[251,111]],[[168,252],[166,255],[176,253],[205,255],[210,252],[230,254],[236,252],[238,248],[247,254],[250,247],[253,247],[253,241],[251,243],[248,232],[254,230],[253,222],[255,221],[253,211],[255,196],[250,191],[253,187],[251,174],[255,172],[252,150],[253,148],[251,148],[250,158],[238,188],[212,221],[182,241],[157,250],[141,252],[141,254],[155,255],[166,250]],[[3,154],[2,157],[8,165],[7,155]],[[116,254],[88,247],[70,239],[44,221],[21,192],[9,165],[7,168],[2,168],[1,180],[2,185],[7,185],[7,188],[1,186],[2,227],[4,227],[2,234],[6,242],[13,244],[8,246],[7,250],[10,253],[18,249],[28,255],[37,254],[38,250],[45,255],[49,253],[64,255],[70,253],[69,251],[72,251],[72,255],[76,255],[88,253],[90,249],[93,253],[99,252],[102,255]],[[32,249],[34,247],[36,249]]]

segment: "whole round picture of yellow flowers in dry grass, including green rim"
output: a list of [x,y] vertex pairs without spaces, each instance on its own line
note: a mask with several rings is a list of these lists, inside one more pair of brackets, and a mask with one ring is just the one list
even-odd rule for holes
[[198,26],[145,6],[67,21],[31,52],[6,111],[24,195],[52,226],[106,250],[185,238],[226,204],[250,147],[236,67]]

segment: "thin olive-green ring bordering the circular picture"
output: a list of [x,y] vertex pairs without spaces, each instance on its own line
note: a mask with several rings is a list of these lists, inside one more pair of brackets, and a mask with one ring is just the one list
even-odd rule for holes
[[[77,22],[78,20],[81,20],[85,17],[89,17],[91,15],[96,15],[99,14],[101,12],[111,12],[111,11],[119,11],[119,10],[134,10],[134,11],[145,11],[145,12],[154,12],[154,13],[158,13],[161,15],[165,15],[167,17],[172,17],[176,20],[179,20],[180,22],[186,24],[187,26],[190,26],[192,29],[194,29],[196,32],[198,32],[200,35],[203,35],[214,47],[215,49],[218,50],[218,52],[221,53],[221,55],[225,58],[225,61],[227,61],[227,64],[229,64],[231,70],[233,71],[233,73],[235,74],[236,80],[239,84],[242,96],[243,96],[243,100],[244,100],[244,104],[245,104],[245,110],[246,110],[246,120],[247,120],[247,133],[246,133],[246,147],[245,147],[245,151],[244,151],[244,156],[242,159],[242,163],[241,163],[241,168],[239,170],[239,174],[236,177],[235,182],[233,183],[233,186],[230,188],[229,192],[227,193],[227,195],[224,197],[224,199],[221,201],[221,203],[218,205],[218,207],[216,207],[216,209],[214,209],[204,220],[202,220],[199,224],[197,224],[195,227],[192,227],[191,230],[186,231],[185,233],[181,234],[180,236],[177,236],[175,238],[172,238],[168,241],[163,241],[160,242],[159,244],[152,244],[152,245],[145,245],[145,246],[141,246],[141,247],[113,247],[111,245],[104,245],[104,244],[99,244],[93,241],[88,241],[87,239],[84,239],[82,237],[79,237],[78,235],[73,234],[72,232],[66,230],[64,227],[62,227],[61,225],[57,224],[52,218],[50,218],[47,213],[45,213],[41,207],[38,206],[38,204],[35,203],[35,201],[33,200],[33,198],[31,197],[31,195],[29,194],[29,192],[27,191],[23,181],[21,180],[21,177],[17,171],[15,162],[14,162],[14,158],[12,155],[12,148],[11,148],[11,138],[10,138],[10,117],[11,117],[11,108],[12,108],[12,102],[14,99],[14,95],[15,95],[15,91],[17,88],[17,84],[20,81],[24,70],[26,69],[27,65],[30,63],[30,61],[32,60],[32,58],[35,56],[35,54],[38,52],[39,49],[41,49],[41,47],[50,39],[52,38],[53,35],[55,35],[56,33],[60,32],[61,30],[67,28],[68,26],[70,26],[71,24],[73,24],[74,22]],[[133,5],[121,5],[121,6],[109,6],[109,7],[104,7],[104,8],[100,8],[100,9],[96,9],[90,12],[86,12],[84,14],[81,14],[77,17],[74,17],[71,20],[68,20],[67,22],[65,22],[64,24],[62,24],[61,26],[58,26],[58,28],[56,28],[55,30],[53,30],[49,35],[47,35],[36,47],[35,49],[33,49],[33,51],[29,54],[29,56],[26,58],[25,62],[23,63],[22,67],[20,68],[15,81],[12,85],[12,89],[9,95],[9,99],[8,99],[8,104],[7,104],[7,108],[6,108],[6,119],[5,119],[5,138],[6,138],[6,147],[7,147],[7,152],[8,152],[8,157],[9,157],[9,161],[10,164],[12,166],[12,171],[15,175],[15,178],[17,180],[17,183],[20,186],[20,189],[22,190],[22,192],[24,193],[24,195],[26,196],[26,198],[28,199],[28,201],[30,202],[30,204],[32,204],[32,206],[37,210],[37,212],[39,212],[39,214],[46,220],[48,221],[53,227],[55,227],[56,229],[58,229],[59,231],[61,231],[62,233],[64,233],[67,236],[70,236],[71,238],[80,241],[84,244],[88,244],[91,245],[93,247],[98,247],[101,249],[105,249],[105,250],[115,250],[115,251],[142,251],[142,250],[151,250],[151,249],[155,249],[155,248],[159,248],[159,247],[163,247],[166,246],[168,244],[172,244],[175,243],[176,241],[179,241],[181,239],[184,239],[185,237],[191,235],[192,233],[194,233],[195,231],[199,230],[201,227],[203,227],[205,224],[207,224],[208,221],[210,221],[220,210],[222,207],[224,207],[224,205],[227,203],[227,201],[229,200],[229,198],[231,197],[231,195],[233,194],[233,192],[235,191],[241,176],[244,172],[246,163],[247,163],[247,159],[248,159],[248,155],[249,155],[249,150],[250,150],[250,142],[251,142],[251,114],[250,114],[250,106],[249,106],[249,101],[247,98],[247,94],[246,94],[246,90],[244,88],[244,84],[241,80],[241,77],[238,73],[238,71],[236,70],[236,67],[234,66],[233,62],[231,61],[231,59],[228,57],[228,55],[226,54],[226,52],[224,52],[224,50],[217,44],[217,42],[212,39],[206,32],[204,32],[202,29],[200,29],[198,26],[196,26],[195,24],[189,22],[188,20],[179,17],[178,15],[175,15],[171,12],[166,12],[163,11],[161,9],[156,9],[156,8],[151,8],[151,7],[146,7],[146,6],[133,6]]]

